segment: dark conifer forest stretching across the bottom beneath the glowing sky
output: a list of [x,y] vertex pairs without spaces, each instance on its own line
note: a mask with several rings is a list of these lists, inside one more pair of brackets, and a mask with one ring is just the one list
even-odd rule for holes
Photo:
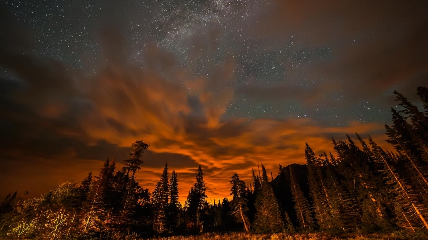
[[136,181],[149,147],[136,141],[122,169],[107,159],[79,183],[63,183],[32,199],[7,195],[0,205],[0,237],[174,239],[240,232],[423,239],[428,236],[428,89],[417,88],[423,111],[394,94],[400,109],[391,109],[391,124],[385,125],[391,151],[358,133],[344,134],[346,141],[332,139],[329,153],[317,154],[306,144],[305,165],[279,164],[278,174],[268,174],[261,164],[250,173],[250,183],[231,173],[230,197],[214,203],[206,201],[199,166],[181,205],[177,173],[167,164],[152,192]]

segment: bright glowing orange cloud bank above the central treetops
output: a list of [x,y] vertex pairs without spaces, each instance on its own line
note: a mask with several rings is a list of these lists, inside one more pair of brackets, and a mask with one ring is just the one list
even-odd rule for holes
[[[251,169],[259,163],[274,175],[278,163],[305,163],[305,142],[320,153],[332,151],[331,137],[344,139],[345,133],[375,133],[381,138],[383,126],[377,123],[328,127],[304,118],[221,120],[234,89],[218,84],[220,79],[233,79],[233,69],[233,60],[218,64],[219,72],[211,79],[192,79],[183,69],[171,70],[168,78],[132,66],[101,69],[86,90],[91,111],[79,118],[86,141],[128,148],[143,140],[151,154],[143,155],[145,165],[137,173],[141,186],[152,191],[164,163],[170,161],[184,203],[199,164],[212,200],[229,196],[229,179],[235,172],[249,184]],[[202,114],[192,112],[192,96],[199,99]]]

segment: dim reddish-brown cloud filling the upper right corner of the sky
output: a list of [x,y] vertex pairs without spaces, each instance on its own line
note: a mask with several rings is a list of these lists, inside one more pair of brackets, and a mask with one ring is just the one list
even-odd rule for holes
[[344,103],[348,106],[366,100],[386,105],[381,98],[393,90],[414,95],[414,89],[425,84],[428,6],[424,1],[273,0],[271,6],[247,28],[247,37],[291,39],[296,51],[329,49],[330,54],[288,69],[283,79],[288,84],[242,86],[239,94],[267,101],[330,104],[325,96],[339,92],[352,99]]

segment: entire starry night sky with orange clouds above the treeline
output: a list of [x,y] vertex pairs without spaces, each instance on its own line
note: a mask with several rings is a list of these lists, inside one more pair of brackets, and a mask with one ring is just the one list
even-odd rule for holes
[[[384,143],[398,90],[428,79],[423,0],[0,0],[0,196],[118,168],[149,144],[184,202],[357,131]],[[386,145],[385,145],[386,146]]]

